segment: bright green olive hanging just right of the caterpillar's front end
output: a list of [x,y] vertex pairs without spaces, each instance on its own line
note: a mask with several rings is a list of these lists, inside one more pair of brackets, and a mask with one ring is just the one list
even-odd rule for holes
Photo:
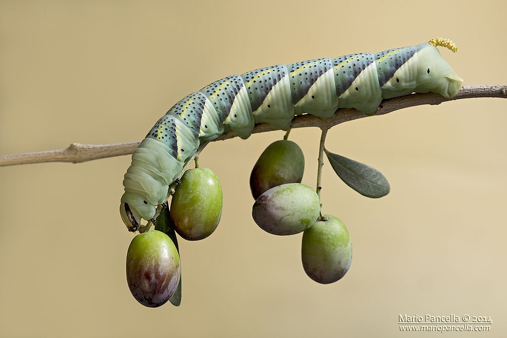
[[222,185],[208,168],[187,170],[172,196],[171,220],[174,230],[186,240],[208,237],[222,215]]

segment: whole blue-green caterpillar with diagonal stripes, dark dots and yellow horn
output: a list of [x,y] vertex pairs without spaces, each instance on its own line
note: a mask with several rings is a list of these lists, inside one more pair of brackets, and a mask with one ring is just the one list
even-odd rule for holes
[[463,80],[437,46],[457,52],[448,39],[378,53],[355,53],[278,64],[232,75],[173,105],[132,154],[124,176],[120,215],[129,231],[150,220],[168,197],[169,185],[202,141],[232,129],[250,136],[256,123],[287,130],[295,115],[330,118],[338,108],[372,114],[382,99],[413,92],[449,98]]

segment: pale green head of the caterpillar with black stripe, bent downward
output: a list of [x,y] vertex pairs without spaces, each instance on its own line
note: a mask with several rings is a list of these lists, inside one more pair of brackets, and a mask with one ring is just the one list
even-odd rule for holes
[[141,219],[151,219],[155,215],[156,206],[144,199],[141,194],[125,193],[120,203],[120,216],[131,232],[136,232]]

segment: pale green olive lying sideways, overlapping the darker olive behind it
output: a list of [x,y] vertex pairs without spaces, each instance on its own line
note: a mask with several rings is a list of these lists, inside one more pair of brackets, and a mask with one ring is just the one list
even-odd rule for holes
[[320,202],[308,185],[287,183],[275,186],[259,196],[252,217],[261,229],[273,235],[294,235],[317,220]]

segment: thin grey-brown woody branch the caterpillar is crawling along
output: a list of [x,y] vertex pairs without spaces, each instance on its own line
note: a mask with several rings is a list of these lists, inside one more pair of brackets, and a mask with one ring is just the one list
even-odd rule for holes
[[[370,116],[384,115],[391,111],[413,107],[416,105],[440,104],[442,102],[447,101],[466,98],[476,98],[476,97],[507,98],[507,85],[463,86],[459,90],[459,92],[450,99],[446,99],[441,95],[434,93],[411,94],[407,96],[387,99],[383,100],[379,105],[375,114]],[[321,129],[322,128],[329,129],[333,126],[336,126],[346,121],[352,121],[366,117],[368,117],[368,115],[363,114],[360,111],[353,108],[338,109],[335,115],[327,120],[321,120],[312,115],[297,116],[294,118],[291,128],[295,129],[304,127],[319,127]],[[278,129],[267,123],[261,123],[255,126],[252,133],[257,134],[273,130]],[[216,138],[213,141],[227,140],[237,136],[238,135],[236,133],[234,133],[232,130],[229,130],[228,132],[224,133],[219,138]],[[72,143],[65,149],[34,152],[34,153],[13,154],[13,155],[0,155],[0,167],[19,164],[44,163],[44,162],[82,163],[108,157],[129,155],[134,152],[139,143],[140,141],[114,143],[114,144]]]

